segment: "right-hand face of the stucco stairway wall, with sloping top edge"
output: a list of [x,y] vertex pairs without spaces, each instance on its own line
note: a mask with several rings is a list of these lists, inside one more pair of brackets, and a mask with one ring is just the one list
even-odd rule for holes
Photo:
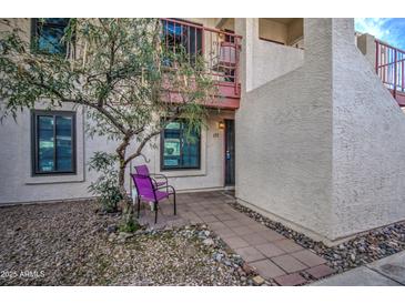
[[352,43],[353,22],[333,26],[335,239],[405,219],[405,115]]

